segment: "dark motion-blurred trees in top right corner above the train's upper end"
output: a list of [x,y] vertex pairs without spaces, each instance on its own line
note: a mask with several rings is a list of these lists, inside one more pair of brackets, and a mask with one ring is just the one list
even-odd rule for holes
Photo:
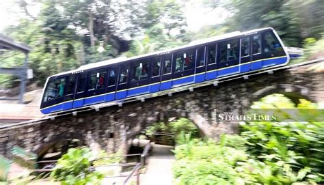
[[[224,25],[231,31],[273,27],[288,46],[301,46],[305,38],[321,38],[324,4],[314,1],[219,1],[205,0],[209,7],[226,8],[233,15]],[[321,24],[319,24],[321,23]]]

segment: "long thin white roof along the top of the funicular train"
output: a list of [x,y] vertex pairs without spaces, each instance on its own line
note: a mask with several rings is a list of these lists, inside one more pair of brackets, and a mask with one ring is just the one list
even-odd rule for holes
[[144,54],[144,55],[138,55],[138,56],[135,56],[135,57],[122,56],[122,57],[118,57],[118,58],[115,58],[115,59],[109,59],[109,60],[105,60],[105,61],[98,61],[96,63],[89,63],[89,64],[86,64],[86,65],[80,66],[76,70],[70,70],[70,71],[67,71],[67,72],[62,72],[62,73],[59,73],[59,74],[55,74],[53,76],[60,76],[60,75],[63,75],[63,74],[70,74],[70,73],[73,73],[73,72],[89,70],[89,69],[98,68],[98,67],[101,67],[101,66],[107,66],[107,65],[111,65],[111,64],[122,63],[123,61],[129,61],[129,60],[133,60],[133,59],[140,59],[140,58],[144,58],[144,57],[158,55],[158,54],[161,54],[161,53],[172,53],[172,51],[177,51],[177,50],[180,50],[182,48],[188,48],[188,47],[191,47],[191,46],[205,44],[205,43],[208,43],[208,42],[214,42],[214,41],[217,41],[217,40],[224,40],[226,38],[232,38],[232,37],[236,37],[236,36],[239,36],[239,35],[246,35],[246,34],[254,33],[254,32],[257,32],[257,31],[263,31],[263,30],[266,30],[266,29],[273,29],[273,28],[267,27],[267,28],[262,28],[262,29],[253,29],[253,30],[244,31],[244,32],[234,31],[234,32],[225,33],[225,34],[222,34],[222,35],[216,35],[216,36],[213,36],[211,38],[204,38],[204,39],[201,39],[201,40],[194,40],[194,41],[190,42],[189,44],[186,44],[186,45],[183,45],[183,46],[178,46],[178,47],[175,47],[175,48],[165,49],[163,51],[155,51],[155,52],[152,52],[152,53],[148,53],[148,54]]

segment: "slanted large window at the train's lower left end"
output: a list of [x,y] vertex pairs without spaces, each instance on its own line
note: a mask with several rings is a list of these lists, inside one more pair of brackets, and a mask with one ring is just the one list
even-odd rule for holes
[[56,98],[63,97],[65,85],[66,85],[66,77],[50,79],[49,85],[47,85],[46,91],[44,93],[43,102],[49,102]]

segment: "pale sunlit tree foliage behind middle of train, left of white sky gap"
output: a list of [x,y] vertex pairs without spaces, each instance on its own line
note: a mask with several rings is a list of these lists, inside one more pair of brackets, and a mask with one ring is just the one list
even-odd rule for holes
[[142,55],[185,44],[185,16],[174,1],[147,1],[139,25],[144,37],[131,43],[126,56]]

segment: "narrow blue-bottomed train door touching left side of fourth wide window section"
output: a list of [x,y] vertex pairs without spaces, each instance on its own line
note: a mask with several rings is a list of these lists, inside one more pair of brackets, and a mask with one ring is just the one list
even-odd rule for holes
[[172,87],[172,54],[162,57],[161,91]]

